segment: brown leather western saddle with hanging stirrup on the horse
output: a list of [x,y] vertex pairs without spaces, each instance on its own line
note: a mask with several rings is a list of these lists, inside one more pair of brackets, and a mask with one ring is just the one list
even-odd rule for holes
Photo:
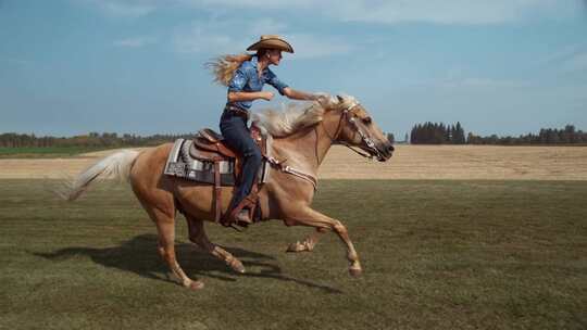
[[[251,138],[257,142],[261,148],[261,153],[263,156],[266,154],[265,139],[261,135],[261,130],[252,125],[251,126]],[[224,137],[218,132],[210,128],[204,128],[198,131],[193,143],[189,149],[190,156],[208,161],[214,164],[214,208],[215,208],[215,221],[221,223],[223,226],[229,227],[234,223],[236,214],[247,207],[249,210],[249,218],[255,219],[255,208],[258,200],[258,180],[253,181],[253,187],[251,193],[245,198],[229,214],[222,215],[222,187],[221,187],[221,174],[220,174],[220,162],[222,161],[233,161],[235,162],[235,183],[239,185],[240,174],[242,172],[242,158],[241,155],[233,151],[224,142]],[[257,217],[258,218],[258,217]],[[239,224],[237,224],[239,225]]]

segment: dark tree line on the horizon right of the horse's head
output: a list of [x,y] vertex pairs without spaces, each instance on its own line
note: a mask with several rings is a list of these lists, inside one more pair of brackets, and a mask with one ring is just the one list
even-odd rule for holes
[[410,143],[413,144],[500,144],[500,145],[530,145],[530,144],[587,144],[587,132],[577,130],[574,125],[564,128],[542,128],[538,134],[520,135],[519,137],[499,137],[490,135],[482,137],[465,131],[461,123],[445,125],[442,123],[425,123],[414,125],[410,134]]

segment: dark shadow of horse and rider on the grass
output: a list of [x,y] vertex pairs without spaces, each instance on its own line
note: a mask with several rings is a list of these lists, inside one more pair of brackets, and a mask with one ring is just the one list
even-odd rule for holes
[[[224,262],[200,251],[193,244],[177,243],[175,245],[178,262],[188,275],[198,277],[215,278],[224,281],[237,281],[239,276],[271,278],[283,281],[296,282],[309,288],[315,288],[327,293],[342,293],[338,289],[315,283],[309,280],[296,279],[282,272],[282,268],[272,261],[275,258],[239,248],[224,248],[239,258],[246,267],[261,268],[259,272],[237,275]],[[50,261],[65,261],[75,256],[87,256],[96,264],[109,268],[116,268],[134,272],[140,277],[176,282],[170,277],[166,264],[159,257],[157,252],[155,234],[139,234],[128,241],[113,248],[65,248],[54,252],[33,252],[32,254]]]

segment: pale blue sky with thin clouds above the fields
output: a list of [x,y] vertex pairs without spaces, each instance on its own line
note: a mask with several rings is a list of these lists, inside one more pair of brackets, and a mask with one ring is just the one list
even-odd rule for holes
[[296,50],[282,80],[352,94],[400,139],[427,120],[587,130],[586,1],[0,0],[0,132],[217,128],[204,63],[261,34]]

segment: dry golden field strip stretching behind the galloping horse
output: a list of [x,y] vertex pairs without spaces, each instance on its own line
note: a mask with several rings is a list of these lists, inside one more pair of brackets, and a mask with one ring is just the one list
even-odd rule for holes
[[[68,158],[0,160],[0,179],[75,175],[113,151]],[[324,179],[587,180],[587,147],[397,145],[387,163],[334,147]]]

